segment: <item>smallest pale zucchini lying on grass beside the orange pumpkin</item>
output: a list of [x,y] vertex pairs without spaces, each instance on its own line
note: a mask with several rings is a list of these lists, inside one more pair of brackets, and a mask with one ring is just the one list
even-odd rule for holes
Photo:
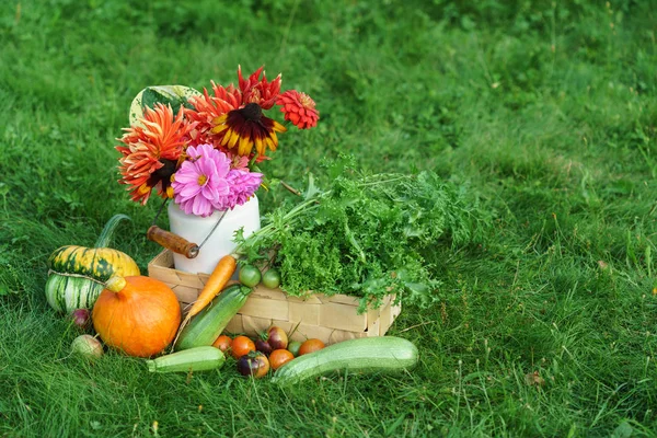
[[226,361],[223,351],[212,346],[189,348],[147,360],[150,372],[189,372],[221,368]]

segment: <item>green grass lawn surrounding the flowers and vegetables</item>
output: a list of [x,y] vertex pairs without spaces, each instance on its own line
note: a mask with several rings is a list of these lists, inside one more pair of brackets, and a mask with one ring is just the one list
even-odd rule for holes
[[[0,436],[657,436],[654,2],[217,3],[0,7]],[[483,245],[429,257],[440,304],[390,331],[418,346],[413,372],[280,390],[230,365],[188,380],[68,357],[48,255],[116,212],[132,218],[116,247],[145,272],[159,252],[155,203],[116,184],[130,101],[239,64],[321,111],[281,136],[272,175],[322,180],[346,151],[433,169],[492,214]]]

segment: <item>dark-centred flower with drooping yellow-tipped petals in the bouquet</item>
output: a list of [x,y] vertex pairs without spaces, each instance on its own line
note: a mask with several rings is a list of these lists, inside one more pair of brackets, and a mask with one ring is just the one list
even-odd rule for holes
[[278,122],[265,117],[263,108],[256,103],[249,103],[240,110],[233,110],[212,123],[212,134],[221,138],[220,145],[228,149],[238,147],[239,155],[250,155],[253,148],[258,155],[264,155],[267,148],[275,151],[278,147],[276,132],[285,132],[287,128]]

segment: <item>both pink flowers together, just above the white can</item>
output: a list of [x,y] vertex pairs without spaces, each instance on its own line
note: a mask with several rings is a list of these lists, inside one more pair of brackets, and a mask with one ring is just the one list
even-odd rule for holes
[[231,160],[211,145],[187,148],[187,160],[171,183],[174,200],[186,215],[210,216],[242,205],[260,187],[262,173],[230,169]]

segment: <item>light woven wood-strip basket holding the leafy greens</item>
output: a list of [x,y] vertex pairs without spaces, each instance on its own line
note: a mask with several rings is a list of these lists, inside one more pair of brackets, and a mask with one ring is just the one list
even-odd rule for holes
[[[173,268],[173,255],[163,251],[148,264],[148,275],[173,289],[183,311],[193,302],[208,279],[207,274],[189,274]],[[288,297],[280,289],[257,286],[244,307],[230,321],[226,332],[255,336],[272,325],[291,334],[291,339],[316,337],[326,344],[366,336],[383,336],[401,306],[393,306],[394,296],[387,296],[379,309],[358,314],[358,299],[344,295],[321,293],[308,299]]]

